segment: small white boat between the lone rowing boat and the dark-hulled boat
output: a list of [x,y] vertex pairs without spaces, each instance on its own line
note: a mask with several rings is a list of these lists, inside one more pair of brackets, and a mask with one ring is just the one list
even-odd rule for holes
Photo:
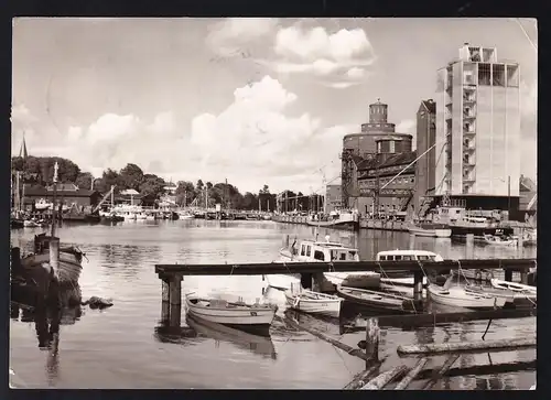
[[[295,288],[300,289],[295,290]],[[336,295],[313,292],[294,284],[284,294],[287,304],[292,310],[332,317],[338,317],[341,314],[341,304],[344,301]]]

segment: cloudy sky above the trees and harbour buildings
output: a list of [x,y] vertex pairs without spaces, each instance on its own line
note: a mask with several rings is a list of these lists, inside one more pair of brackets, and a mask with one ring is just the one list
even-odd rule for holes
[[464,42],[520,64],[521,173],[537,173],[531,19],[13,20],[12,153],[101,176],[136,163],[176,182],[322,192],[369,104],[415,134]]

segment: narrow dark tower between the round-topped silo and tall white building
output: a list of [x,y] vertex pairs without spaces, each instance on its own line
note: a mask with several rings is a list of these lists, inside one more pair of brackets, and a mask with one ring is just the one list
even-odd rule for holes
[[[436,188],[436,102],[433,99],[423,100],[417,111],[417,153],[421,156],[415,164],[414,209],[420,213],[423,203],[433,195]],[[431,149],[429,151],[429,149]],[[430,199],[429,199],[430,202]]]

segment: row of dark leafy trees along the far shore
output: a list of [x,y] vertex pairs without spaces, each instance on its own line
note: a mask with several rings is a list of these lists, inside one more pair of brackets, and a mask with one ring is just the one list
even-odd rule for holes
[[[111,185],[115,185],[115,194],[123,190],[132,188],[142,196],[148,196],[160,201],[166,194],[165,187],[170,184],[164,179],[144,173],[137,164],[129,163],[119,171],[107,169],[100,177],[94,179],[91,173],[84,172],[71,160],[58,156],[28,156],[22,159],[13,156],[11,159],[12,171],[20,171],[23,182],[34,185],[50,185],[53,183],[54,164],[57,162],[57,182],[73,183],[79,188],[94,190],[100,193],[107,193]],[[175,183],[175,202],[177,205],[205,206],[205,199],[208,198],[208,206],[222,204],[224,207],[236,209],[259,209],[276,210],[276,194],[270,193],[268,185],[263,185],[258,193],[246,192],[241,194],[239,190],[229,183],[203,182],[197,180],[194,184],[190,181],[179,181]],[[207,195],[206,195],[207,194]],[[304,196],[301,192],[294,193],[288,191],[289,198],[287,209],[315,209],[316,199]]]

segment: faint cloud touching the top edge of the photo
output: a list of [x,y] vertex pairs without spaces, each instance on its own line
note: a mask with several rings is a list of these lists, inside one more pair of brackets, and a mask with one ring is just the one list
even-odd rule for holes
[[209,26],[206,43],[219,56],[235,56],[247,44],[272,33],[278,22],[273,18],[227,18]]

